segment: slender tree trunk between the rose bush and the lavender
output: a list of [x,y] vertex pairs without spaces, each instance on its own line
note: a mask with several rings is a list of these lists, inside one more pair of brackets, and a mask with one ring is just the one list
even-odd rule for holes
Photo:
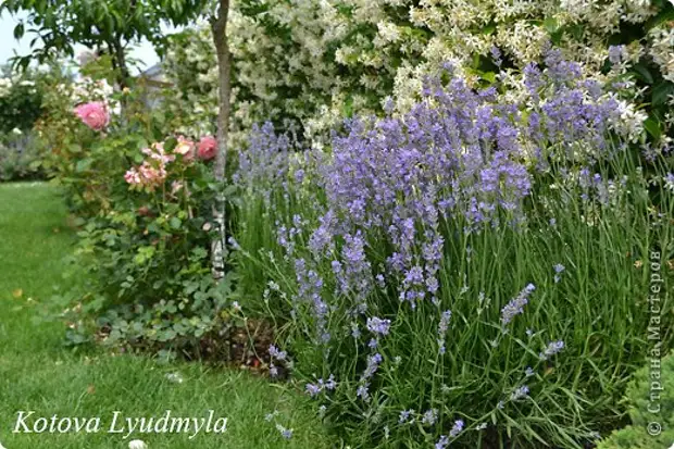
[[219,238],[212,242],[212,269],[213,276],[221,279],[225,274],[226,257],[226,216],[225,197],[222,189],[225,183],[225,171],[227,167],[227,139],[229,136],[229,103],[232,87],[229,43],[227,41],[227,16],[229,14],[229,0],[220,0],[217,16],[211,21],[213,30],[213,41],[217,54],[219,93],[220,111],[217,114],[217,157],[215,158],[215,179],[220,184],[221,192],[217,194],[213,207],[213,220],[219,229]]

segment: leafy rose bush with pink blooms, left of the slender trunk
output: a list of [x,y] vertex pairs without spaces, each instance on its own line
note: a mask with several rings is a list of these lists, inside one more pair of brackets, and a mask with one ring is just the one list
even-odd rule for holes
[[[59,84],[38,124],[47,153],[41,166],[79,228],[73,266],[85,276],[59,297],[65,319],[79,323],[68,338],[79,344],[103,335],[110,345],[195,356],[200,341],[236,323],[221,313],[230,280],[215,283],[210,270],[212,169],[197,157],[196,142],[172,133],[164,110],[148,108],[143,86],[102,88],[111,73],[105,65],[85,67],[95,78],[84,84]],[[103,130],[73,112],[91,101],[110,114]],[[177,152],[180,145],[189,151]],[[220,349],[226,357],[228,347]]]

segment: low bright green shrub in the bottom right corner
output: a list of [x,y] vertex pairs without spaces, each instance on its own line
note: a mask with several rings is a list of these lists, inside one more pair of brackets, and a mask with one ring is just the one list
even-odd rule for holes
[[[659,350],[658,350],[659,351]],[[597,449],[669,449],[674,445],[674,354],[644,366],[627,386],[632,425],[613,432]]]

